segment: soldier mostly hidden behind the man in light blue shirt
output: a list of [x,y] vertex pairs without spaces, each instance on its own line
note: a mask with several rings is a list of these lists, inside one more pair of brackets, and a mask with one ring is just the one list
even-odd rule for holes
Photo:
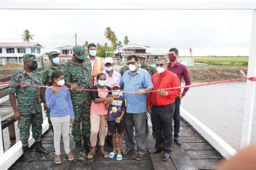
[[[155,67],[152,67],[152,66],[148,65],[148,63],[147,63],[147,56],[146,55],[139,56],[139,67],[141,67],[144,70],[147,70],[147,72],[150,74],[150,76],[152,76],[153,74],[156,73]],[[123,73],[125,73],[126,70],[129,70],[127,65],[123,66],[120,69],[119,73],[121,75],[123,75]],[[148,117],[147,117],[147,114],[145,114],[145,115],[146,115],[146,134],[148,136],[148,132],[149,132],[148,123],[147,123]],[[152,132],[152,135],[154,136],[154,130]]]

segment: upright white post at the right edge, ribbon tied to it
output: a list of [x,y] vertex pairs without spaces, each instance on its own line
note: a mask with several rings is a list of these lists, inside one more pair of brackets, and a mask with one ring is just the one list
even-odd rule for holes
[[[255,48],[256,48],[256,10],[253,10],[247,78],[256,76],[256,49]],[[253,82],[251,80],[246,81],[245,108],[243,110],[241,148],[250,145],[251,126],[253,123],[255,88],[256,88],[256,82]]]

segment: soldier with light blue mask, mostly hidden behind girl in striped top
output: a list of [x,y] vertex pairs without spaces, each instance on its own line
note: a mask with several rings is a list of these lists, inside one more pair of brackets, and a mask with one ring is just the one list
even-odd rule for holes
[[[51,62],[51,65],[47,66],[42,71],[43,86],[51,86],[51,77],[52,77],[53,71],[58,70],[58,71],[61,71],[61,72],[64,73],[62,67],[59,65],[60,59],[59,59],[58,56],[59,56],[59,53],[57,53],[55,51],[49,52],[48,58],[49,58],[49,61]],[[44,94],[45,94],[46,93],[46,88],[43,88],[43,91],[44,91]],[[47,111],[46,111],[46,116],[48,118],[49,128],[51,128],[52,131],[53,131],[52,122],[51,122],[50,117],[49,117],[49,109],[47,109]]]

